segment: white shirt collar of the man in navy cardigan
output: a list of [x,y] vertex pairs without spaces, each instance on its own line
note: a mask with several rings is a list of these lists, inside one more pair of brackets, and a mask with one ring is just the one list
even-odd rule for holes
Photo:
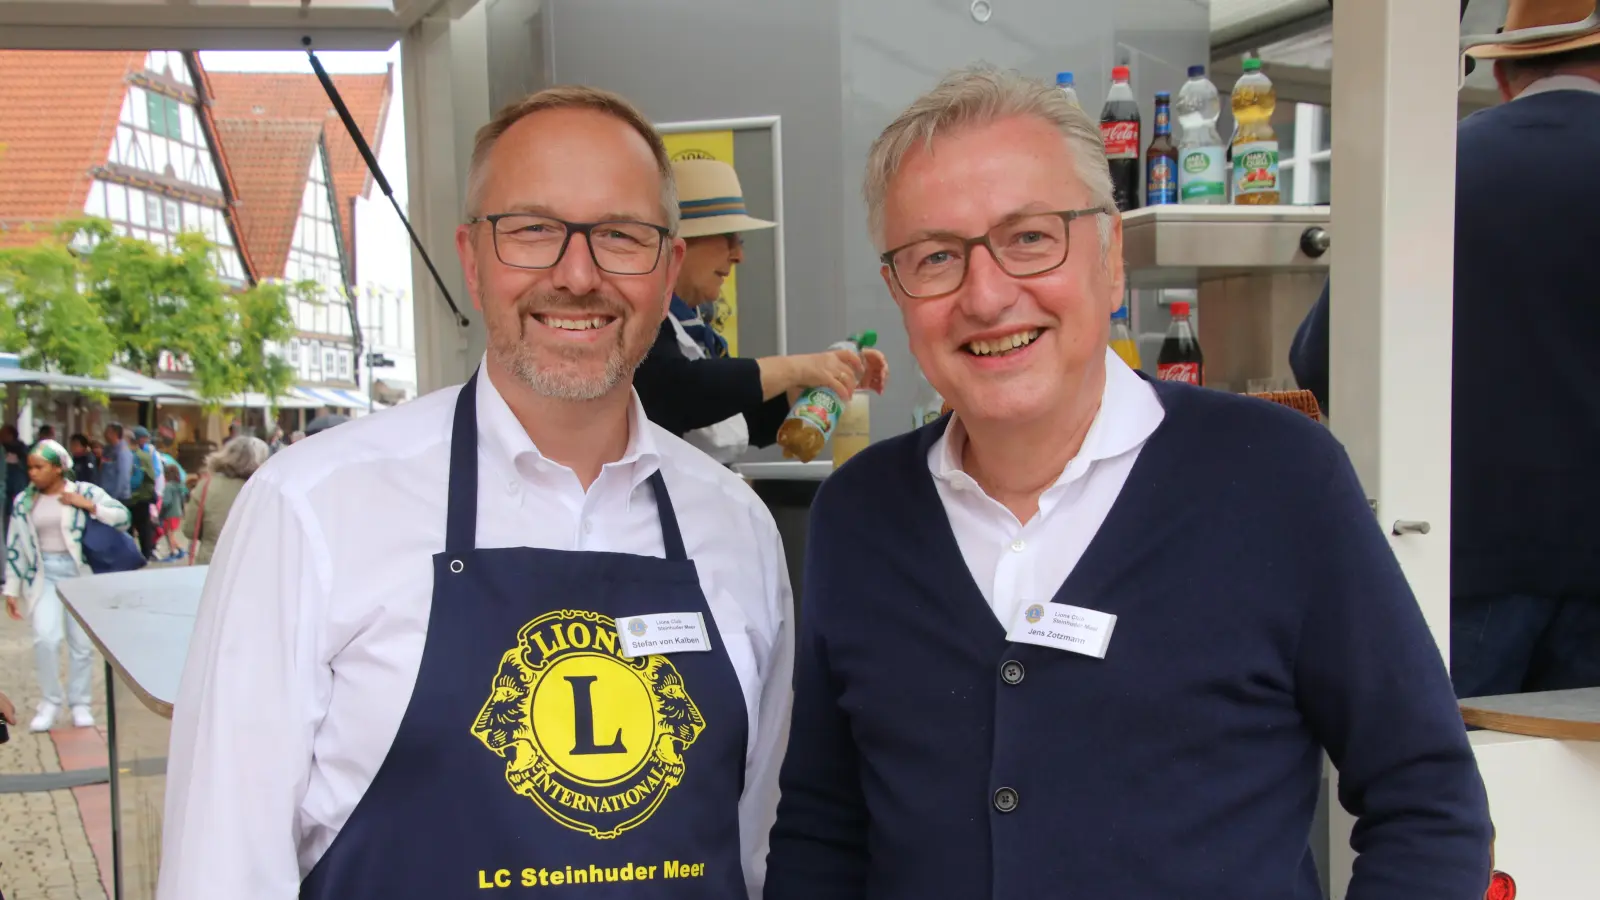
[[[1141,447],[1155,428],[1162,424],[1166,410],[1155,397],[1155,391],[1144,383],[1128,364],[1106,351],[1106,388],[1101,391],[1101,405],[1090,423],[1088,434],[1083,436],[1083,447],[1078,455],[1067,463],[1056,482],[1040,496],[1045,500],[1080,477],[1099,460],[1110,460]],[[965,471],[962,471],[962,452],[966,445],[966,426],[960,416],[950,415],[950,423],[944,434],[928,452],[928,468],[933,477],[978,487]]]

